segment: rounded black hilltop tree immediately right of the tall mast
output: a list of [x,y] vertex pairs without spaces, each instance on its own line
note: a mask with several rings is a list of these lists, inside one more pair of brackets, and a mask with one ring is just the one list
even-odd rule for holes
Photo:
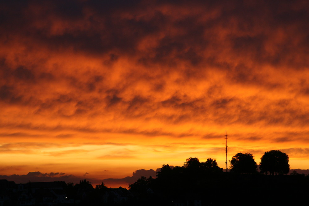
[[250,153],[235,154],[230,161],[231,163],[230,171],[243,174],[255,173],[257,165],[253,158],[254,156]]

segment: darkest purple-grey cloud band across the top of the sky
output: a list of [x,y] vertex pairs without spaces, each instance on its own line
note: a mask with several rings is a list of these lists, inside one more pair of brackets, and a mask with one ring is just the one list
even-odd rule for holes
[[[30,32],[31,36],[41,44],[49,44],[49,47],[57,45],[73,47],[77,51],[98,55],[113,49],[128,55],[136,55],[139,53],[137,46],[141,39],[164,32],[165,36],[159,40],[154,50],[146,51],[140,59],[147,62],[164,62],[176,58],[188,61],[191,65],[197,65],[205,60],[201,51],[214,50],[217,55],[223,55],[223,44],[226,45],[226,42],[220,43],[216,33],[226,30],[230,33],[226,37],[230,36],[227,40],[231,43],[231,47],[227,49],[231,49],[235,56],[242,55],[253,58],[257,62],[271,64],[281,62],[292,65],[294,61],[292,57],[299,53],[299,50],[301,53],[308,53],[308,46],[306,46],[308,44],[304,44],[308,41],[308,36],[303,35],[307,25],[305,19],[308,19],[308,12],[306,12],[308,5],[302,4],[303,2],[294,4],[267,1],[250,3],[138,1],[124,4],[49,1],[45,4],[28,2],[25,6],[24,3],[16,2],[14,6],[18,15],[12,16],[9,12],[3,12],[2,18],[10,19],[9,22],[24,19],[19,23],[21,30]],[[5,3],[2,11],[7,11],[11,6],[13,5]],[[174,16],[172,13],[163,13],[160,10],[162,6],[174,7],[175,11],[180,12],[184,12],[187,6],[197,10],[197,13]],[[24,10],[32,7],[36,12],[23,18],[26,14],[28,15]],[[203,16],[211,12],[217,12],[217,14],[203,19]],[[70,22],[73,26],[68,28],[60,26],[62,32],[53,35],[50,33],[53,26],[50,16],[55,17],[54,24],[57,24],[58,20]],[[40,18],[38,22],[50,23],[45,26],[33,26],[38,17]],[[82,24],[80,24],[81,21]],[[168,28],[174,28],[178,32],[169,33]],[[273,55],[265,47],[268,44],[276,44],[272,43],[275,38],[272,34],[278,30],[283,32],[285,39],[274,45],[277,49]],[[12,31],[8,29],[7,32]],[[292,41],[291,38],[297,41]],[[155,53],[155,57],[150,58],[151,53]],[[176,60],[174,61],[177,64]],[[299,64],[300,62],[297,63]],[[302,64],[308,66],[305,60]]]

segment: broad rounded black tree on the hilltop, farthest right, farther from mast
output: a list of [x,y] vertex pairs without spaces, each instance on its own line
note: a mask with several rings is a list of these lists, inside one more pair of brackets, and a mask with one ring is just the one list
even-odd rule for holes
[[279,150],[265,152],[261,157],[260,170],[269,174],[287,174],[290,171],[289,156]]

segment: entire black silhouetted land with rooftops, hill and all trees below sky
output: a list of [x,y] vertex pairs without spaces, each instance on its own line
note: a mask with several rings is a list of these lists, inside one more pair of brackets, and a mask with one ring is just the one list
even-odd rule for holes
[[[296,171],[286,175],[290,169],[286,153],[265,152],[260,158],[260,172],[251,153],[237,153],[230,163],[230,172],[223,172],[212,158],[205,162],[188,158],[183,166],[164,164],[156,177],[142,176],[129,185],[129,190],[108,188],[104,182],[94,188],[86,179],[75,185],[46,182],[46,188],[36,191],[36,183],[18,185],[2,181],[0,204],[21,205],[19,203],[32,201],[33,204],[28,205],[260,206],[304,205],[307,202],[309,176]],[[4,187],[4,184],[11,186]],[[54,184],[60,184],[63,189],[55,189]]]

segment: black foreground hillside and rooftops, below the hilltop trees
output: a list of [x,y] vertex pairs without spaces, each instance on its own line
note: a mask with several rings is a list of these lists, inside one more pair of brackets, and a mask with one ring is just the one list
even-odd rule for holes
[[93,188],[85,180],[74,186],[0,180],[0,205],[307,205],[309,176],[171,171],[142,177],[129,190]]

